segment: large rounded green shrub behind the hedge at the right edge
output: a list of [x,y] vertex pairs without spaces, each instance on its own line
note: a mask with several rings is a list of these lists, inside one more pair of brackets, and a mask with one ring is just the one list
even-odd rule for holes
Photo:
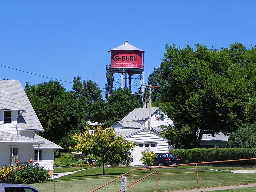
[[228,148],[256,148],[256,124],[244,124],[228,137]]

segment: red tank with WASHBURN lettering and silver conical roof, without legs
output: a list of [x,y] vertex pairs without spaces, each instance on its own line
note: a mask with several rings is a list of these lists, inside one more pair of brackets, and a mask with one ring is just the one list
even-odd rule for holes
[[109,52],[111,52],[110,68],[144,68],[143,53],[145,51],[134,47],[128,41]]

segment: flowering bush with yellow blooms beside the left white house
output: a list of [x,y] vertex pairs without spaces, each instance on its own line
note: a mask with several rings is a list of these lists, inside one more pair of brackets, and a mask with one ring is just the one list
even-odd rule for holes
[[3,166],[0,169],[1,181],[14,181],[19,184],[40,183],[49,177],[48,170],[38,164],[33,166],[22,164],[17,167]]

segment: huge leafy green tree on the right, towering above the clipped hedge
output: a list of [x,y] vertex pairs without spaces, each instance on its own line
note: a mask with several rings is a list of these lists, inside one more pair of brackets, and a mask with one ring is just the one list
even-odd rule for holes
[[163,131],[173,144],[199,147],[203,134],[231,133],[245,119],[254,121],[254,47],[246,49],[235,43],[216,50],[198,43],[195,49],[166,45],[165,51],[160,67],[149,75],[149,83],[162,86],[155,94],[174,121]]

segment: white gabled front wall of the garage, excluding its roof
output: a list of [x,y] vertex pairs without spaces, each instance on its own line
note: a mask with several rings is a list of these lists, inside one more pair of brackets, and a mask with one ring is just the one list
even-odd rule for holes
[[[155,147],[149,147],[155,153],[157,152],[168,152],[168,141],[165,141],[161,137],[149,132],[149,131],[142,131],[137,133],[131,137],[126,138],[128,141],[132,141],[134,143],[143,143],[144,147],[136,147],[135,150],[132,152],[134,155],[134,161],[131,165],[143,165],[142,162],[139,161],[141,157],[141,151],[145,148],[145,144],[155,144]],[[142,150],[141,150],[142,149]],[[155,150],[154,150],[155,149]]]

